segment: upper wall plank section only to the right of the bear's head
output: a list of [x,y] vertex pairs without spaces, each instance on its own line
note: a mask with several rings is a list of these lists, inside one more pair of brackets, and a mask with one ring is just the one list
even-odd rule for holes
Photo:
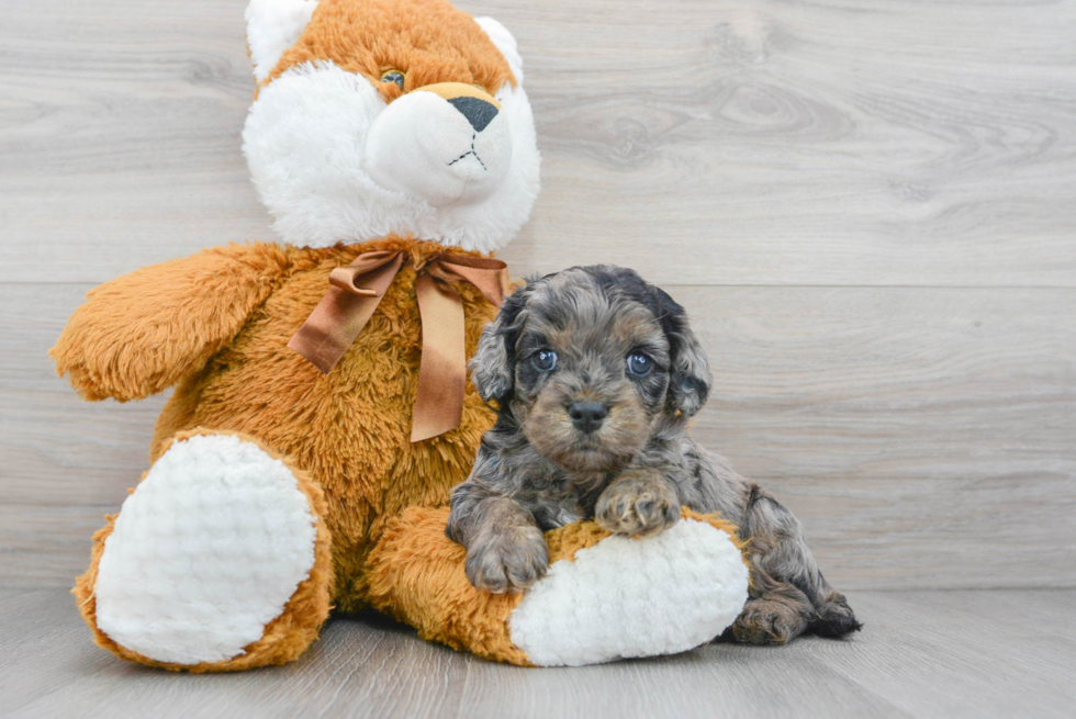
[[1071,3],[608,0],[570,27],[548,3],[518,12],[548,160],[504,254],[516,265],[718,284],[1076,279]]

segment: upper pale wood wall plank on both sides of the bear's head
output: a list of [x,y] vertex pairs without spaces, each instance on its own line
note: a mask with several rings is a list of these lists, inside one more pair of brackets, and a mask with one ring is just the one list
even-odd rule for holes
[[[239,153],[244,4],[8,9],[0,280],[272,238]],[[1076,284],[1073,3],[462,4],[526,57],[546,161],[518,273]]]

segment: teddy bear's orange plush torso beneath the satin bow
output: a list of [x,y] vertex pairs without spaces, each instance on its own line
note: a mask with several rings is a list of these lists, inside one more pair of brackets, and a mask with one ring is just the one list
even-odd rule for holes
[[[410,441],[422,332],[411,266],[401,270],[378,312],[329,374],[287,347],[328,288],[329,271],[360,251],[379,249],[407,249],[417,263],[445,248],[399,238],[329,249],[285,248],[276,291],[226,349],[177,386],[150,450],[156,460],[161,443],[176,432],[212,427],[258,437],[291,457],[325,493],[337,577],[335,604],[344,610],[365,606],[354,587],[370,537],[412,504],[444,503],[449,488],[467,478],[479,439],[493,423],[492,412],[468,384],[457,429],[424,442]],[[255,245],[250,251],[278,250]],[[201,296],[213,301],[209,294]],[[460,288],[460,296],[470,356],[496,308],[470,285]],[[87,307],[92,306],[91,300]],[[77,313],[72,323],[78,317]]]

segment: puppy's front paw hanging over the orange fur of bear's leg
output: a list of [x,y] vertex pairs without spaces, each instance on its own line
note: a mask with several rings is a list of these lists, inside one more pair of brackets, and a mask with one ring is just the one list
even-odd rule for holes
[[549,547],[537,527],[503,528],[477,538],[464,564],[471,584],[493,594],[523,592],[548,569]]

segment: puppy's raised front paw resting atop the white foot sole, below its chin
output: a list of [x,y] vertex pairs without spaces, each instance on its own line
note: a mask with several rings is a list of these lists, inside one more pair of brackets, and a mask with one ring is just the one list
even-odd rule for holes
[[626,472],[598,497],[594,518],[614,533],[648,537],[680,519],[680,499],[657,472]]

